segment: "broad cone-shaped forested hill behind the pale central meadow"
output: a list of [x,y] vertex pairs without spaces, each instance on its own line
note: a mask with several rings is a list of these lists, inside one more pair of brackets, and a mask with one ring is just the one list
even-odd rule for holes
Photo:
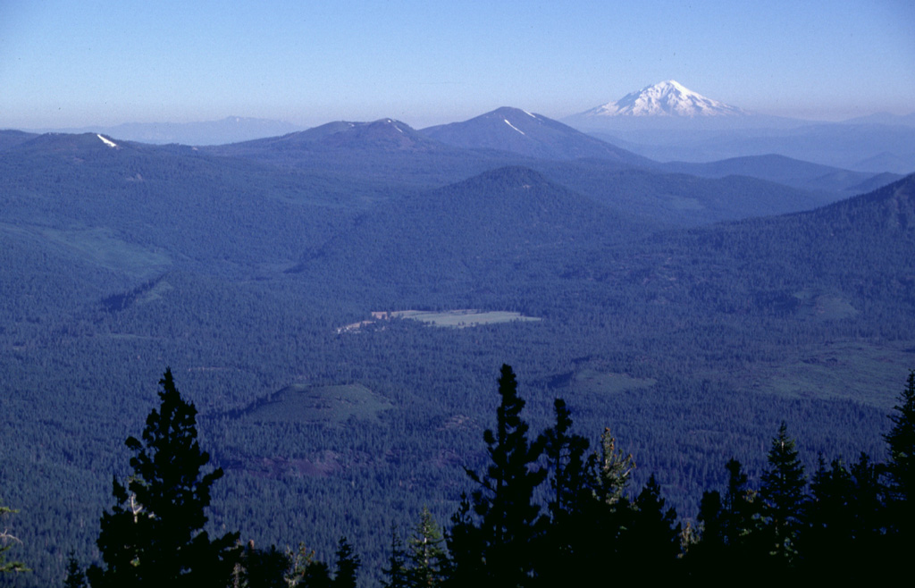
[[532,169],[491,170],[393,200],[359,219],[298,268],[392,292],[467,293],[552,279],[582,251],[639,229]]

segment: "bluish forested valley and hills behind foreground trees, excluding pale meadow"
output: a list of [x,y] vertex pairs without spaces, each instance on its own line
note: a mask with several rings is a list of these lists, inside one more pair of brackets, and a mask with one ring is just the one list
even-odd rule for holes
[[[164,366],[225,472],[210,536],[280,554],[304,541],[331,575],[345,536],[363,583],[389,565],[392,524],[406,546],[424,508],[445,530],[472,495],[502,363],[532,441],[565,399],[590,451],[610,427],[635,458],[630,498],[653,474],[684,526],[731,457],[759,489],[782,421],[808,476],[819,452],[827,469],[887,455],[915,363],[912,177],[704,224],[733,218],[715,194],[772,210],[800,193],[484,152],[473,170],[415,155],[403,181],[376,182],[408,155],[364,148],[350,177],[358,158],[18,139],[0,155],[0,505],[23,541],[7,561],[32,572],[4,582],[59,583],[70,551],[101,561],[124,439]],[[339,331],[408,309],[540,320]]]

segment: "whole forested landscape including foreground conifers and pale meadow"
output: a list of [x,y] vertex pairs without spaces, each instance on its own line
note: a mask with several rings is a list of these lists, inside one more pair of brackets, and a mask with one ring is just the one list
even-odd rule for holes
[[915,176],[391,120],[0,139],[0,585],[845,579],[911,543]]

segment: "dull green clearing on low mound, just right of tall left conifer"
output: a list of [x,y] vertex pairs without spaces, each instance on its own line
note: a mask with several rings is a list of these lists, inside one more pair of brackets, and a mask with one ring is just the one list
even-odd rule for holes
[[247,418],[261,422],[345,422],[378,421],[378,414],[393,408],[391,401],[361,384],[307,386],[293,384],[279,390],[274,398],[248,412]]

